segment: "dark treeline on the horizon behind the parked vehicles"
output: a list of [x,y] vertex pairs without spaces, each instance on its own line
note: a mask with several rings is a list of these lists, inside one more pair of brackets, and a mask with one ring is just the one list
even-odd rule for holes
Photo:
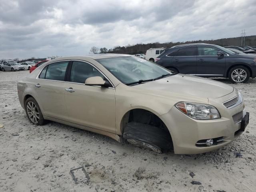
[[[120,54],[141,54],[146,53],[146,50],[150,48],[170,48],[175,45],[180,44],[189,44],[189,43],[208,43],[208,44],[216,44],[220,46],[241,46],[241,37],[235,38],[224,38],[217,40],[197,40],[197,41],[186,41],[186,42],[166,42],[166,43],[148,43],[148,44],[136,44],[136,45],[127,45],[127,46],[115,46],[114,48],[100,48],[101,53],[120,53]],[[244,40],[243,40],[244,43]],[[256,46],[256,35],[254,36],[246,36],[245,37],[245,45],[248,46]]]

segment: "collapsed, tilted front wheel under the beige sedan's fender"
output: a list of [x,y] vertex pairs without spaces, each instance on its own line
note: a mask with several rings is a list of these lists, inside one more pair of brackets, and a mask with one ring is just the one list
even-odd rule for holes
[[158,153],[172,148],[170,134],[162,128],[148,124],[130,122],[124,128],[123,138],[140,148],[147,148]]

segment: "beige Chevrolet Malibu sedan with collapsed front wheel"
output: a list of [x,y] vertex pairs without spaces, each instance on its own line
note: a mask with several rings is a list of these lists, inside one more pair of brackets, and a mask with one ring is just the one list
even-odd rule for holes
[[18,81],[28,120],[47,120],[155,152],[198,154],[230,144],[248,124],[236,88],[130,55],[50,60]]

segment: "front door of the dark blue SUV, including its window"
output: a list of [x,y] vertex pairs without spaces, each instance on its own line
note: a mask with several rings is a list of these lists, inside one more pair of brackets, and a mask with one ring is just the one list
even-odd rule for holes
[[211,46],[198,46],[197,76],[222,77],[226,67],[226,58],[218,56],[220,51]]

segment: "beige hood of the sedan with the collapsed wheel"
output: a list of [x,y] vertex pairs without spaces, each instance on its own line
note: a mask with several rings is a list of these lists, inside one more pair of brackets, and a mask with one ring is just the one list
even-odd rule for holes
[[222,82],[190,76],[176,74],[152,82],[143,83],[137,88],[153,90],[158,94],[166,92],[180,94],[183,96],[193,96],[199,98],[220,98],[233,92],[234,88]]

